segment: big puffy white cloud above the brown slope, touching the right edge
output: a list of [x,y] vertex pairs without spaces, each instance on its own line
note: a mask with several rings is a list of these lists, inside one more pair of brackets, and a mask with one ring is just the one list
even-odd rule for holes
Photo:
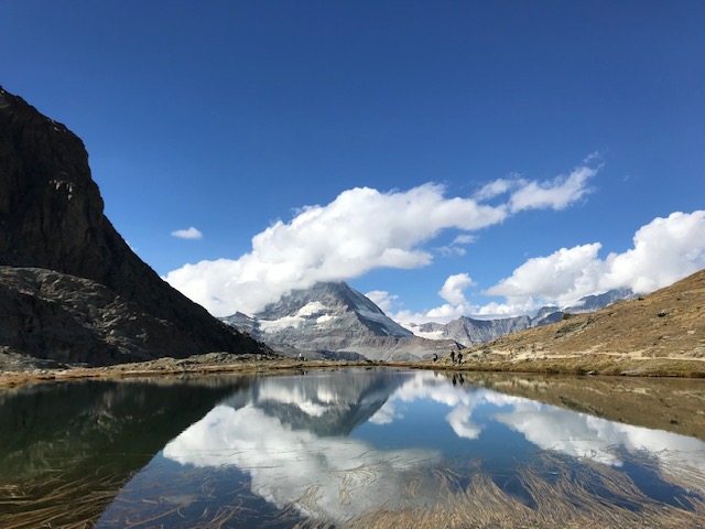
[[568,305],[584,295],[629,288],[648,293],[705,268],[705,210],[672,213],[637,230],[633,248],[598,256],[594,242],[561,248],[547,257],[529,259],[498,284],[486,290],[511,303]]

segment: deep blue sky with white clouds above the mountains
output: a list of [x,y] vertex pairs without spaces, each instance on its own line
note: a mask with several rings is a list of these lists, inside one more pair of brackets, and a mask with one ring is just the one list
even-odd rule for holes
[[705,267],[703,2],[0,6],[0,84],[218,315],[347,280],[447,321]]

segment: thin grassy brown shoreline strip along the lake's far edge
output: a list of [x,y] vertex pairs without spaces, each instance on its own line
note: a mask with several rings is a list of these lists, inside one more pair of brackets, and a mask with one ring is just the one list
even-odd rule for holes
[[270,355],[212,353],[188,358],[160,358],[104,367],[28,367],[0,370],[0,389],[70,380],[121,380],[129,378],[183,377],[218,374],[272,374],[286,370],[338,369],[346,367],[392,367],[437,371],[474,371],[539,375],[623,376],[657,378],[705,378],[705,361],[683,358],[629,358],[589,355],[585,357],[524,358],[521,360],[467,359],[452,364],[447,358],[417,361],[300,360]]

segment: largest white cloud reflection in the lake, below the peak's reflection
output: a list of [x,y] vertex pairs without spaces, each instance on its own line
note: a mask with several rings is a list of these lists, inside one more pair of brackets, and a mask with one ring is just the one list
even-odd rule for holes
[[250,474],[252,492],[276,507],[296,504],[305,515],[341,520],[395,505],[414,474],[441,461],[433,450],[377,450],[293,430],[254,406],[216,407],[163,455],[195,466],[237,465]]

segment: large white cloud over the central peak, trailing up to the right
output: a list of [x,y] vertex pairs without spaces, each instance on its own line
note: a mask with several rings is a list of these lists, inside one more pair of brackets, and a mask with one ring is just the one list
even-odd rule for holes
[[[186,264],[164,279],[215,315],[251,314],[293,289],[318,281],[349,280],[380,267],[427,266],[433,256],[424,247],[426,242],[443,230],[468,235],[501,223],[520,210],[513,205],[514,196],[525,188],[542,190],[547,197],[555,187],[561,204],[567,205],[571,197],[584,195],[586,190],[577,187],[595,174],[582,169],[574,172],[582,174],[582,180],[514,183],[513,195],[498,205],[447,197],[437,184],[389,193],[369,187],[348,190],[325,206],[304,207],[291,222],[280,220],[256,235],[252,250],[239,259]],[[572,194],[563,191],[568,180]],[[545,197],[541,201],[545,207],[554,207]],[[528,208],[530,196],[521,204]],[[544,206],[535,202],[531,207]]]

